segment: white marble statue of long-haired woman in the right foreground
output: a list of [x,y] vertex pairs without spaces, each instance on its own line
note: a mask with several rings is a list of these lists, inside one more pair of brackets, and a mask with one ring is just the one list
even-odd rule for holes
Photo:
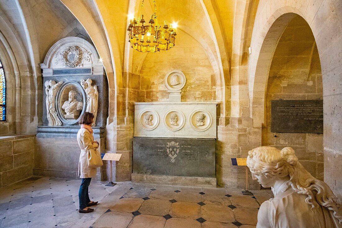
[[272,187],[274,198],[261,204],[257,228],[339,228],[342,207],[329,186],[298,162],[291,147],[258,147],[248,152],[253,180]]

